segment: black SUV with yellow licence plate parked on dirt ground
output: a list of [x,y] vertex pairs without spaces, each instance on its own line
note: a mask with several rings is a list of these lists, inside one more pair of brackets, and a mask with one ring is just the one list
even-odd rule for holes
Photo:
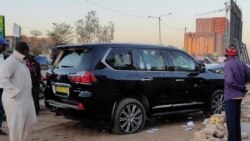
[[224,110],[223,75],[177,48],[106,43],[58,49],[47,71],[45,104],[66,118],[109,120],[115,133],[130,134],[143,129],[146,117]]

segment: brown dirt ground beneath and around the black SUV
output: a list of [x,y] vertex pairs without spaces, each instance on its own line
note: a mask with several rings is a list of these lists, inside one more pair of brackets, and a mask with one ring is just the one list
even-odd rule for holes
[[[250,102],[250,95],[244,101]],[[55,116],[44,107],[42,100],[40,102],[42,111],[30,136],[32,141],[189,141],[196,130],[204,128],[200,112],[151,118],[140,133],[116,135],[100,122],[79,122]],[[193,121],[195,126],[187,127],[189,121]],[[8,133],[6,122],[3,127]],[[250,123],[242,123],[242,130],[250,135]],[[8,136],[0,136],[0,141],[8,141]]]

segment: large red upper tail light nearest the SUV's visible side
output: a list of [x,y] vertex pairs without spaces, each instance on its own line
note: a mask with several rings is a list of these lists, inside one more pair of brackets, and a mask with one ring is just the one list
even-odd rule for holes
[[95,75],[91,71],[86,71],[83,76],[73,75],[68,77],[70,81],[78,83],[93,83],[97,81]]

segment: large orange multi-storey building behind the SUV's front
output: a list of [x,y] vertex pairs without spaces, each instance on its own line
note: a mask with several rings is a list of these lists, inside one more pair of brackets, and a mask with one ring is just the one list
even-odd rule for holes
[[185,33],[184,48],[194,57],[213,56],[215,53],[224,56],[227,29],[225,17],[196,19],[196,32]]

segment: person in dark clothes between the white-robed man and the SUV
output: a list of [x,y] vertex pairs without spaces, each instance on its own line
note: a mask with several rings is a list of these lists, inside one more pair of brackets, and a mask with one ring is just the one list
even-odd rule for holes
[[35,104],[36,115],[38,115],[40,110],[39,93],[40,93],[40,81],[41,81],[41,68],[40,64],[33,57],[34,56],[29,56],[26,64],[30,70],[31,81],[32,81],[32,97]]

